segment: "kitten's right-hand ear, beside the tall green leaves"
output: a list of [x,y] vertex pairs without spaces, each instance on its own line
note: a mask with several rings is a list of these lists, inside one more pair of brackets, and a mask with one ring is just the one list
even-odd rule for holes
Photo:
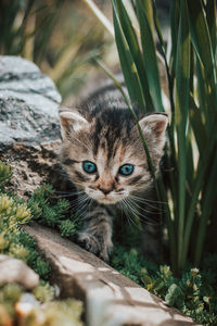
[[164,146],[165,130],[168,124],[168,116],[166,114],[150,114],[140,120],[139,124],[146,141],[156,141]]

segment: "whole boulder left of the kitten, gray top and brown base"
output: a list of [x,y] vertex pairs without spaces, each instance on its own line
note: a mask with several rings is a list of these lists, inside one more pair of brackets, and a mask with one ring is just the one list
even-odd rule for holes
[[0,160],[12,166],[18,195],[58,175],[60,102],[53,82],[33,62],[0,57]]

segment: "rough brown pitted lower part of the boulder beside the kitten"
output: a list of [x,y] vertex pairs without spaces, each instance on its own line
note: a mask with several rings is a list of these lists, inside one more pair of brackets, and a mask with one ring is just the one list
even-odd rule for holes
[[9,163],[13,171],[8,189],[28,197],[40,185],[55,183],[55,179],[61,189],[59,147],[60,140],[41,145],[15,142],[0,148],[0,160]]

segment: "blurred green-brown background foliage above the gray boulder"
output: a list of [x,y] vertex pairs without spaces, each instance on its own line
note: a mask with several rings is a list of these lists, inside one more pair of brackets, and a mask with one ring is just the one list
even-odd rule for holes
[[[110,1],[95,1],[112,15]],[[80,0],[1,0],[0,54],[34,61],[63,100],[94,78],[95,58],[115,65],[114,38]],[[111,60],[112,59],[112,60]]]

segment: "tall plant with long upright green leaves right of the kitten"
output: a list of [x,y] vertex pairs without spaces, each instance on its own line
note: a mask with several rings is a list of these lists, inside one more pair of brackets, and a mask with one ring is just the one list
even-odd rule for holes
[[[155,1],[133,3],[139,32],[123,1],[112,0],[115,39],[131,102],[141,111],[165,110],[158,57],[167,75],[171,111],[165,160],[168,190],[159,177],[157,191],[159,200],[167,203],[170,261],[177,273],[187,260],[200,264],[207,225],[216,215],[216,2],[200,0],[196,8],[190,0],[170,2],[168,53]],[[156,50],[155,34],[161,53]]]

